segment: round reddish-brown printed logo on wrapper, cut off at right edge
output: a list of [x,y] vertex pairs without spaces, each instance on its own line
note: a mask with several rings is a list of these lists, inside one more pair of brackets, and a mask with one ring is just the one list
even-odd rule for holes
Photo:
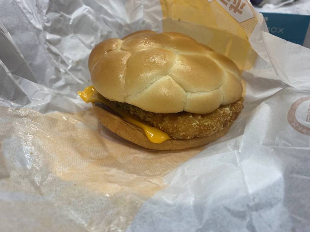
[[290,125],[304,135],[310,135],[310,97],[295,101],[287,114]]

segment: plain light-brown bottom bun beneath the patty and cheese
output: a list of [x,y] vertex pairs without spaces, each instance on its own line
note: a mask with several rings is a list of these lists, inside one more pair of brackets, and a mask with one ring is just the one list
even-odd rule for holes
[[144,148],[154,150],[181,150],[206,145],[219,137],[224,136],[230,128],[230,126],[225,127],[223,130],[206,137],[195,137],[192,139],[180,140],[171,139],[166,140],[161,144],[155,144],[148,140],[144,131],[140,127],[127,122],[116,114],[110,113],[102,107],[95,105],[95,103],[92,104],[98,120],[110,131]]

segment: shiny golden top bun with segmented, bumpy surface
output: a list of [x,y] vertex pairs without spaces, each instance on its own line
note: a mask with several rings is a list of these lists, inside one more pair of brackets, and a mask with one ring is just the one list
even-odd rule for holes
[[103,41],[88,67],[101,95],[154,113],[207,114],[242,94],[234,62],[175,32],[138,31]]

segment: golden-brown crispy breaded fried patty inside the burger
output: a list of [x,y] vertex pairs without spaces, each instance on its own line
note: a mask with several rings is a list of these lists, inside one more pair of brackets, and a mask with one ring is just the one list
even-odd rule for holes
[[238,101],[221,105],[209,114],[153,113],[134,105],[114,101],[113,104],[129,112],[141,121],[148,122],[153,127],[165,131],[173,139],[191,139],[194,137],[210,136],[223,128],[230,126],[243,109],[243,98]]

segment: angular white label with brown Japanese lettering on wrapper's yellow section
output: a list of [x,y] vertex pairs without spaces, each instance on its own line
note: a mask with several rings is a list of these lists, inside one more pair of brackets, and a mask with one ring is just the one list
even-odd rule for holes
[[[208,0],[212,2],[214,0]],[[253,12],[246,0],[215,0],[218,2],[234,19],[242,23],[254,18]]]

